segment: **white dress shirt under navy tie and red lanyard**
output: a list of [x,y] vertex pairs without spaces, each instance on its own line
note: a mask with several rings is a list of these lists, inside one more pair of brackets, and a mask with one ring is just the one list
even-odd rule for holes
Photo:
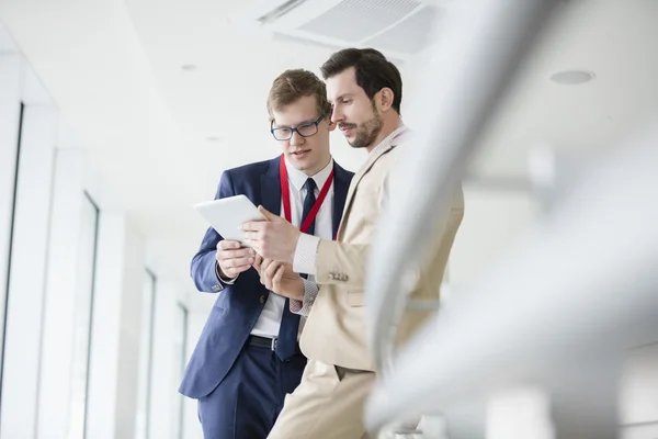
[[[302,214],[304,212],[304,199],[306,198],[306,188],[304,184],[308,179],[308,176],[303,171],[296,169],[290,161],[285,161],[285,167],[288,173],[288,189],[291,191],[291,221],[296,226],[299,227],[302,223]],[[311,178],[316,183],[316,199],[318,198],[320,190],[325,185],[325,182],[329,178],[331,173],[331,169],[333,169],[333,160],[329,160],[329,165],[327,165],[321,171],[313,176]],[[284,216],[283,213],[283,201],[281,203],[281,216]],[[318,211],[318,215],[315,219],[315,236],[325,239],[333,238],[333,183],[329,188],[329,192],[327,193],[327,198],[322,202],[320,210]],[[308,277],[308,280],[305,282],[305,290],[308,288],[315,288],[315,281],[313,277]],[[261,336],[261,337],[277,337],[279,336],[279,327],[281,326],[281,317],[283,316],[283,307],[285,306],[285,297],[280,296],[279,294],[270,292],[268,301],[263,306],[263,311],[261,312],[260,317],[256,322],[253,329],[251,330],[252,335]]]

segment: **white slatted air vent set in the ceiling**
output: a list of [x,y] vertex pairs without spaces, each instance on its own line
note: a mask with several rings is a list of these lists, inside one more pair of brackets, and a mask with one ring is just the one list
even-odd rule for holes
[[405,59],[424,48],[454,0],[251,0],[232,16],[242,30],[321,47],[374,47]]

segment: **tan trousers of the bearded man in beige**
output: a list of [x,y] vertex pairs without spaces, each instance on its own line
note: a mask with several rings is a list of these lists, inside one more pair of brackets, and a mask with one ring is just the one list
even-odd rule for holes
[[365,398],[374,372],[308,360],[302,382],[285,397],[269,439],[362,439]]

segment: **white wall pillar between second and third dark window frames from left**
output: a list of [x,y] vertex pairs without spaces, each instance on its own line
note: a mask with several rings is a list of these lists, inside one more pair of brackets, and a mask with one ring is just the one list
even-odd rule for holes
[[88,425],[91,438],[132,437],[144,267],[143,243],[121,213],[101,218],[93,309]]

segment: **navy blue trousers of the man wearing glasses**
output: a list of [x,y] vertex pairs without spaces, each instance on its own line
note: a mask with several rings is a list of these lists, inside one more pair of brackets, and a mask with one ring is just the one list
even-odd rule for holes
[[302,354],[283,362],[270,348],[245,346],[219,385],[198,399],[204,438],[265,439],[305,365]]

